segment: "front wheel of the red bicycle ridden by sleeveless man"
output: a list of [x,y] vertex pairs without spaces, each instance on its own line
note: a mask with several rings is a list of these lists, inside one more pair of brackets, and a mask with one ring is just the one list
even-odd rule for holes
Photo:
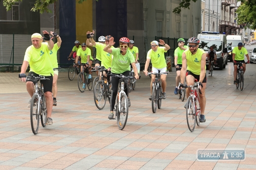
[[194,101],[193,97],[190,96],[187,100],[187,108],[186,108],[186,117],[187,117],[187,123],[190,131],[194,131],[195,127],[195,113],[194,113]]

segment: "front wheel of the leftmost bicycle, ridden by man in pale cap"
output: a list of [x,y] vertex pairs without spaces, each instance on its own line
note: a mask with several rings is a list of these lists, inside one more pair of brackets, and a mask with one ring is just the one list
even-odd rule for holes
[[30,106],[30,122],[33,134],[37,134],[39,129],[39,96],[34,94]]

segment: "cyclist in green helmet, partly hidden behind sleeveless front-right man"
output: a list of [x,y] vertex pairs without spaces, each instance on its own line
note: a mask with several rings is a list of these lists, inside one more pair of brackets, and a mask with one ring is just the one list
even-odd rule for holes
[[178,95],[178,85],[181,80],[181,67],[182,67],[182,53],[184,50],[188,49],[188,46],[184,46],[185,40],[183,38],[178,39],[178,46],[177,49],[174,50],[174,65],[176,68],[176,87],[174,90],[174,94]]

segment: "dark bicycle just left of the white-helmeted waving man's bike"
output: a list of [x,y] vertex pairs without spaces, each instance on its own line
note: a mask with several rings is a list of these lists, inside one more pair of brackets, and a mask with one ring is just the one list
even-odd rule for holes
[[85,66],[86,64],[77,64],[77,65],[79,65],[79,66],[82,67],[82,72],[79,73],[78,79],[77,79],[77,84],[78,84],[78,89],[79,89],[79,91],[80,91],[81,93],[83,93],[83,92],[85,91],[85,89],[86,89],[86,85],[87,85],[89,91],[91,91],[92,88],[93,88],[93,74],[91,74],[92,77],[89,78],[89,69],[90,69],[91,67],[88,66],[88,67],[86,67],[86,68],[84,69],[84,66]]

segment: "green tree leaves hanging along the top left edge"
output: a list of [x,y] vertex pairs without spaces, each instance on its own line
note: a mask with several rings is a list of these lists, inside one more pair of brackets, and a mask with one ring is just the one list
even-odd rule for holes
[[[1,0],[0,0],[1,1]],[[12,5],[14,5],[15,2],[20,2],[22,0],[3,0],[3,6],[5,6],[6,11],[10,10]],[[31,11],[39,11],[41,14],[45,12],[51,12],[51,10],[48,9],[49,4],[52,4],[58,0],[36,0],[34,3],[34,7],[32,7]],[[79,0],[78,3],[82,3],[86,0]],[[98,0],[96,0],[98,1]]]

